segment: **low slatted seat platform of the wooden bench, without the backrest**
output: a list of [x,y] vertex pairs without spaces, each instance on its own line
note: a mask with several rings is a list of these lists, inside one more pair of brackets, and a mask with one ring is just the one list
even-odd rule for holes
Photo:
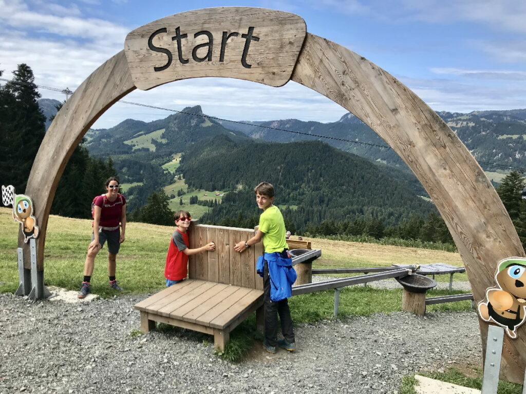
[[[148,333],[155,322],[214,335],[215,348],[224,350],[229,333],[263,305],[263,291],[224,283],[187,279],[135,305],[140,329]],[[260,321],[260,319],[257,319]]]

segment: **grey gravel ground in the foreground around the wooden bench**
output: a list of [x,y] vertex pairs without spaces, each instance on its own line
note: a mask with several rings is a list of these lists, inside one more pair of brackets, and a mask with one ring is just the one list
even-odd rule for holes
[[481,363],[474,311],[302,324],[294,354],[258,345],[233,364],[213,355],[209,336],[131,336],[133,305],[146,296],[67,304],[0,294],[0,393],[382,394],[411,372]]

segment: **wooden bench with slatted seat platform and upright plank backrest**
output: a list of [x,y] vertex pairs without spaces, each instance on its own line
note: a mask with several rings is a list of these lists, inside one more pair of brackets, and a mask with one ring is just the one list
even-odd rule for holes
[[213,335],[215,348],[225,350],[230,331],[254,311],[257,329],[263,329],[263,281],[256,273],[262,245],[244,253],[234,251],[237,242],[255,234],[249,229],[199,225],[193,220],[188,231],[190,248],[214,241],[216,250],[188,256],[188,279],[135,305],[140,329],[148,333],[155,322],[191,329]]

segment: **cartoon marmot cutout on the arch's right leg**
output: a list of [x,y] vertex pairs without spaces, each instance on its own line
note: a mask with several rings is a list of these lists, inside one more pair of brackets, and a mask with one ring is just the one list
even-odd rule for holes
[[478,306],[480,317],[486,322],[505,328],[510,338],[517,338],[517,327],[524,323],[526,307],[526,258],[510,257],[502,260],[495,273],[500,287],[486,290],[487,303]]

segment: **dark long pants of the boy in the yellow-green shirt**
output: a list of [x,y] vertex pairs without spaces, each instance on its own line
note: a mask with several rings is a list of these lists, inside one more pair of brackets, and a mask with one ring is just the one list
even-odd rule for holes
[[288,299],[272,301],[270,299],[270,277],[268,275],[268,263],[265,260],[263,271],[263,308],[265,314],[265,338],[270,346],[276,346],[278,340],[278,315],[281,321],[281,333],[285,340],[294,343],[294,329],[292,329],[292,318]]

